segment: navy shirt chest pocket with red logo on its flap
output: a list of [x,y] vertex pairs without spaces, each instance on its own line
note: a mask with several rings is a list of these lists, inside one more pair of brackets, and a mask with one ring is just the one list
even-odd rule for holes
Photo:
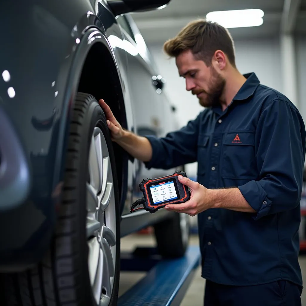
[[224,135],[222,146],[222,178],[254,180],[258,177],[255,132],[229,132]]

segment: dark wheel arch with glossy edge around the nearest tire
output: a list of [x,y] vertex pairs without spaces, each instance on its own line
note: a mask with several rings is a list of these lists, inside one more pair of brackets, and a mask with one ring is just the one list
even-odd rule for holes
[[[58,168],[60,173],[58,173],[58,176],[55,176],[61,177],[61,181],[65,169],[69,122],[77,92],[91,94],[97,101],[104,99],[110,105],[114,116],[122,127],[127,128],[124,91],[118,64],[106,36],[94,27],[87,28],[83,34],[73,58],[69,80],[66,86],[65,96],[68,103],[65,103],[63,106],[63,120],[60,126],[62,133],[59,135],[59,146],[57,150],[57,160],[60,161],[61,166]],[[122,211],[127,193],[129,156],[118,144],[113,143],[113,146],[118,177],[120,208]]]

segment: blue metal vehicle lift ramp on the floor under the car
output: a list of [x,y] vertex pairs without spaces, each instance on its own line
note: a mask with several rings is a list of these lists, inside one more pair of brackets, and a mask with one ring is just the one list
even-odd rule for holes
[[147,271],[118,299],[118,306],[178,306],[200,264],[199,246],[189,246],[185,256],[161,259],[155,248],[121,253],[121,271]]

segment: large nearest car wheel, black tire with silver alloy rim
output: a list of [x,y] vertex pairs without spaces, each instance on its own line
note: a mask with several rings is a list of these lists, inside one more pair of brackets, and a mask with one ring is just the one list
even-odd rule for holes
[[[100,159],[97,152],[102,152]],[[100,180],[95,169],[102,169]],[[98,201],[95,194],[101,189]],[[118,183],[106,118],[91,95],[78,93],[70,122],[63,200],[53,242],[36,268],[2,278],[6,299],[3,305],[115,306],[120,273],[119,231]],[[99,262],[99,255],[103,255],[103,261]],[[95,279],[95,269],[100,278]],[[96,282],[92,286],[93,280]]]

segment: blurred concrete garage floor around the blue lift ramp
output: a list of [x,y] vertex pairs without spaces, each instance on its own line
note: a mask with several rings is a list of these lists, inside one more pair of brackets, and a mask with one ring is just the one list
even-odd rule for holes
[[[190,239],[191,245],[199,245],[198,236],[193,235]],[[155,246],[153,235],[132,234],[121,239],[121,250],[132,251],[136,246]],[[303,280],[306,279],[306,256],[300,256],[300,265]],[[125,293],[136,282],[145,276],[142,272],[121,272],[119,284],[119,296]],[[190,284],[181,306],[203,306],[205,279],[201,278],[201,268],[196,270],[194,279]],[[132,305],[131,305],[132,306]],[[306,306],[306,290],[302,293],[302,306]]]

